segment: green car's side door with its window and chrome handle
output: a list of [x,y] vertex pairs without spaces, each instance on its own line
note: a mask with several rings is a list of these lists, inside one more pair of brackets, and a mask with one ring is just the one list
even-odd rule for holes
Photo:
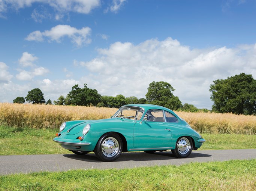
[[148,110],[142,122],[134,125],[133,146],[143,150],[171,149],[172,132],[169,124],[165,122],[163,110]]

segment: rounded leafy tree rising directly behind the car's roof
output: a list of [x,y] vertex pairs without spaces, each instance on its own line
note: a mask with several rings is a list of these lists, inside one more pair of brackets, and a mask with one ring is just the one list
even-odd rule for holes
[[172,93],[175,89],[168,82],[151,82],[146,94],[147,102],[170,109],[177,110],[182,107],[182,103],[177,96]]

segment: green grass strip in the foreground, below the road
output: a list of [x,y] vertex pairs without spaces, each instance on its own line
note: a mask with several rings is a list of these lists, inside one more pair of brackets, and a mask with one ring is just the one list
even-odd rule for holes
[[256,159],[0,176],[4,191],[256,190]]

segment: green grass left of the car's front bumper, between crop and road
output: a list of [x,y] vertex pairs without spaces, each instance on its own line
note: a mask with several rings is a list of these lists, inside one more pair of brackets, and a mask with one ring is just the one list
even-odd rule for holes
[[0,155],[70,153],[52,141],[56,132],[57,129],[0,126]]

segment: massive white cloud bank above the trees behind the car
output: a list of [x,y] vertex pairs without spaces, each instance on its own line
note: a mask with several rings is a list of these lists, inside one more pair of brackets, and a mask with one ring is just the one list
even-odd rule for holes
[[166,81],[183,103],[210,109],[209,88],[214,80],[241,72],[256,76],[256,45],[200,50],[166,38],[138,45],[116,42],[97,51],[97,58],[74,63],[90,71],[80,81],[102,95],[145,97],[151,82]]

